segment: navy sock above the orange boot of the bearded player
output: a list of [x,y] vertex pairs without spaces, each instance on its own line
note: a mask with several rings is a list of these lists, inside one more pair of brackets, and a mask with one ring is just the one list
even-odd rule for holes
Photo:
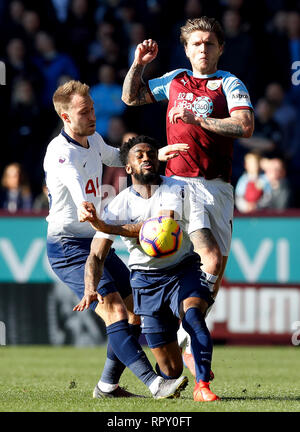
[[191,348],[195,359],[196,381],[208,382],[212,359],[212,340],[205,319],[198,308],[189,308],[183,319],[183,328],[191,336]]

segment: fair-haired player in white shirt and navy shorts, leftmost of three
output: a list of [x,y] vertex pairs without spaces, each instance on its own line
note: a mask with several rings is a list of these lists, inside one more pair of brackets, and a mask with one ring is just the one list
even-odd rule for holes
[[[47,254],[56,275],[81,298],[84,293],[84,266],[94,230],[90,224],[79,222],[78,210],[88,200],[100,212],[102,164],[122,164],[119,149],[107,145],[95,132],[94,105],[86,84],[79,81],[65,83],[54,93],[53,103],[63,121],[63,129],[48,145],[44,159],[50,206],[47,217]],[[164,148],[160,156],[162,160],[167,160],[176,156],[177,150],[185,147],[174,146],[171,150]],[[126,233],[126,227],[124,230]],[[151,387],[155,397],[170,397],[179,393],[186,380],[180,378],[165,386],[161,377],[154,373],[137,341],[140,325],[139,319],[132,312],[129,272],[113,250],[106,259],[98,291],[101,298],[105,298],[104,304],[99,304],[96,300],[91,304],[91,309],[104,320],[106,326],[114,325],[113,333],[123,332],[131,354],[123,352],[121,358],[118,358],[108,343],[106,363],[93,396],[136,396],[118,385],[123,370],[133,360],[136,363],[134,373],[146,385],[150,387],[154,381],[159,383]],[[122,325],[118,327],[116,323],[119,322]]]

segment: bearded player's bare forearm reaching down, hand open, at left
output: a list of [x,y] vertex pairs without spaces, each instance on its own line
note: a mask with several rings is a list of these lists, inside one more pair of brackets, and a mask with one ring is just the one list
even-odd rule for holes
[[103,297],[97,292],[104,261],[107,257],[112,241],[105,238],[94,238],[91,243],[91,251],[85,264],[84,272],[84,296],[73,308],[73,311],[82,312],[90,307],[93,301],[103,303]]

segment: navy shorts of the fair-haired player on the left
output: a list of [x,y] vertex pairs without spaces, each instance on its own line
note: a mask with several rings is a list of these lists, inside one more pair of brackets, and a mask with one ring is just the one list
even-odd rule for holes
[[[47,255],[58,278],[81,299],[84,295],[84,267],[90,253],[92,238],[62,237],[47,239]],[[104,271],[97,291],[103,297],[118,291],[122,298],[131,294],[129,270],[111,249],[105,260]],[[98,302],[93,302],[94,310]]]

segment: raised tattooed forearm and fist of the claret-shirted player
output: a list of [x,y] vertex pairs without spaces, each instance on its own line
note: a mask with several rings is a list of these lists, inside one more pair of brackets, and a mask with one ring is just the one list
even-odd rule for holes
[[127,105],[138,106],[153,102],[143,81],[143,71],[157,53],[157,43],[152,39],[144,40],[136,47],[134,61],[123,83],[122,101]]

